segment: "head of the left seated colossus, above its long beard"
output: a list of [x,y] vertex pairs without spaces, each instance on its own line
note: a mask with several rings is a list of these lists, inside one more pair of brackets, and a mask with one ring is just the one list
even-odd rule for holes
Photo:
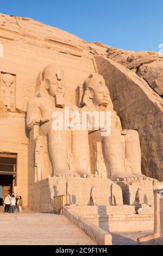
[[65,95],[64,71],[58,65],[48,65],[43,69],[43,84],[49,95]]

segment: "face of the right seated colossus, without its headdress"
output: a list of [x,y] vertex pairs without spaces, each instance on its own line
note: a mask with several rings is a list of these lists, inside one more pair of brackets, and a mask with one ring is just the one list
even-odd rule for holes
[[107,106],[110,101],[110,94],[108,88],[105,86],[105,82],[101,81],[100,83],[97,83],[93,87],[93,90],[93,103],[98,106]]

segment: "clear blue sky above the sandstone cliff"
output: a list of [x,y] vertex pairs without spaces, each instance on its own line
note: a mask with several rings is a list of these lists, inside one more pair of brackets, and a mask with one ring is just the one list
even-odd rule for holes
[[0,12],[126,50],[159,51],[163,44],[162,0],[1,0]]

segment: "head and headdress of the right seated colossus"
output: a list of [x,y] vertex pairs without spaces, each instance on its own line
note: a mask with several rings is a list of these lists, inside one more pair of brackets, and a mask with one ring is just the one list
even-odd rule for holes
[[[107,107],[111,102],[109,90],[105,85],[103,76],[99,74],[90,75],[85,81],[84,105],[92,101],[95,106]],[[112,104],[112,102],[111,102]]]

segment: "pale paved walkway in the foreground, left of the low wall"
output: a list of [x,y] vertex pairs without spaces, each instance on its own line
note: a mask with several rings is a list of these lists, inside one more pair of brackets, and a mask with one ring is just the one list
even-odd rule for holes
[[0,214],[0,245],[95,245],[63,215]]

